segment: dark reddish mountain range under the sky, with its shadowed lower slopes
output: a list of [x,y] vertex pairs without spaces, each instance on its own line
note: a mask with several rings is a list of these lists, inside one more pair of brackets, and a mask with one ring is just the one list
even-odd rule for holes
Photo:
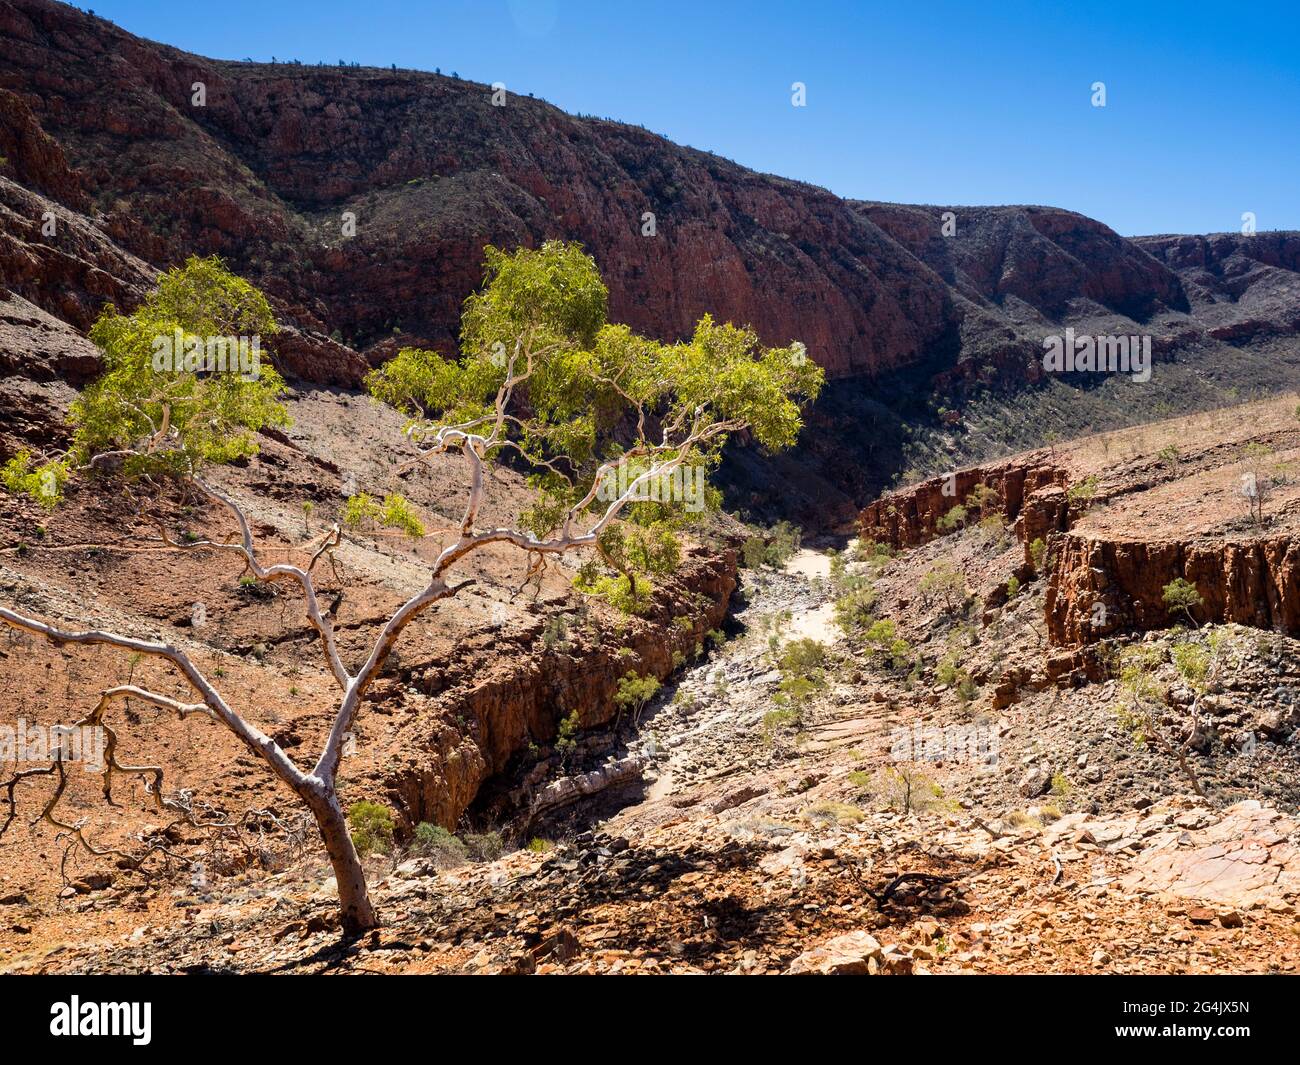
[[[801,447],[737,441],[724,475],[729,505],[803,521],[1048,428],[1286,388],[1300,358],[1300,234],[1126,239],[1050,207],[844,200],[459,78],[208,60],[53,0],[0,0],[0,285],[78,330],[218,254],[272,295],[290,377],[355,388],[400,345],[455,350],[485,243],[558,237],[641,332],[707,311],[802,339],[832,386]],[[1156,380],[1048,378],[1043,338],[1066,326],[1152,335]],[[21,372],[22,350],[0,358]]]

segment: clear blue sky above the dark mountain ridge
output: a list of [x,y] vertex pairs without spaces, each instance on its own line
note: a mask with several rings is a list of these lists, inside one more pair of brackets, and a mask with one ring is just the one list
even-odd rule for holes
[[[1052,204],[1130,235],[1235,230],[1247,211],[1261,230],[1300,229],[1297,0],[94,8],[221,59],[500,81],[842,196]],[[1089,101],[1097,81],[1105,108]]]

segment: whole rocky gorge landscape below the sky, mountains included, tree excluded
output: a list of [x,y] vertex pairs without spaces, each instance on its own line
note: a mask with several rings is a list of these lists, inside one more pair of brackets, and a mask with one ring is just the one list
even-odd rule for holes
[[[341,936],[315,831],[226,731],[135,700],[122,759],[231,827],[74,771],[88,839],[165,840],[142,875],[40,821],[52,779],[0,784],[0,970],[1294,971],[1300,234],[1122,237],[1035,205],[952,208],[945,233],[942,205],[493,95],[0,0],[0,462],[68,443],[107,303],[221,256],[265,290],[292,390],[294,425],[218,475],[263,559],[311,558],[356,489],[400,481],[429,527],[348,534],[316,570],[348,662],[464,490],[455,463],[399,479],[400,419],[356,389],[403,346],[456,352],[485,244],[580,242],[611,320],[672,341],[711,313],[828,377],[785,454],[734,434],[734,514],[642,616],[578,596],[576,560],[485,550],[403,633],[341,774],[395,823],[367,860],[378,931]],[[1066,330],[1148,338],[1153,372],[1048,373]],[[493,467],[485,521],[526,497]],[[0,490],[0,603],[161,635],[313,759],[337,692],[299,601],[156,521],[233,532],[113,480],[52,514]],[[620,705],[629,672],[662,687]],[[0,723],[75,722],[127,681],[185,690],[0,632]]]

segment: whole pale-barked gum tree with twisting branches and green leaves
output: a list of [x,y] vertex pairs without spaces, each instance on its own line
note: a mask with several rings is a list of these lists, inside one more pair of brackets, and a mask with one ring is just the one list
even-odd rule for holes
[[[344,930],[373,927],[377,917],[338,797],[343,744],[403,631],[468,583],[452,583],[458,563],[489,545],[504,545],[526,557],[529,572],[536,572],[549,557],[593,549],[616,576],[585,567],[581,586],[634,609],[646,584],[645,577],[637,580],[637,572],[662,571],[677,557],[675,533],[690,507],[663,490],[671,475],[688,464],[711,467],[728,436],[740,430],[768,449],[790,446],[802,427],[801,402],[820,390],[822,371],[802,345],[764,347],[753,332],[719,325],[707,316],[689,341],[658,343],[608,322],[606,302],[595,263],[576,244],[549,242],[514,254],[489,247],[484,287],[465,300],[463,354],[447,359],[406,348],[369,375],[369,391],[410,416],[407,433],[420,443],[417,458],[399,476],[419,477],[433,455],[458,454],[464,463],[465,498],[459,527],[428,564],[424,586],[351,662],[344,661],[329,614],[320,609],[313,577],[320,559],[343,536],[339,523],[312,541],[303,566],[264,564],[243,508],[204,477],[213,464],[254,454],[263,427],[287,424],[277,398],[283,382],[269,367],[248,378],[183,367],[159,372],[151,359],[153,338],[176,330],[186,338],[272,333],[274,321],[265,299],[216,260],[194,259],[164,274],[135,313],[105,309],[91,334],[104,350],[105,372],[72,411],[73,447],[43,464],[18,455],[5,467],[5,485],[47,506],[57,503],[72,477],[108,486],[126,481],[134,492],[159,497],[177,490],[207,497],[229,515],[235,537],[178,542],[159,523],[164,544],[178,551],[230,554],[257,581],[296,585],[338,687],[324,746],[313,765],[299,765],[229,705],[213,680],[173,642],[65,629],[0,607],[0,622],[58,645],[108,645],[164,659],[192,689],[192,702],[138,685],[116,685],[99,694],[84,722],[103,724],[110,737],[105,796],[114,772],[134,775],[160,806],[192,817],[185,796],[164,795],[160,767],[118,762],[107,715],[127,697],[181,717],[207,715],[229,728],[313,817],[335,873]],[[480,521],[485,469],[498,459],[525,467],[533,488],[533,499],[514,527]],[[424,533],[416,508],[396,493],[382,502],[354,495],[343,516],[391,525],[410,536]],[[46,819],[73,832],[94,853],[117,853],[98,849],[81,824],[60,819],[65,782],[58,761],[47,769],[20,770],[0,783],[0,792],[8,789],[4,827],[14,815],[16,789],[38,774],[57,776],[55,798],[43,810]],[[151,852],[152,845],[133,861]]]

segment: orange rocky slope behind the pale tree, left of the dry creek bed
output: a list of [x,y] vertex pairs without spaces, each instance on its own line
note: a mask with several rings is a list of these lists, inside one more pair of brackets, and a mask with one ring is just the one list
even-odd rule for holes
[[[287,436],[264,440],[257,458],[220,479],[250,515],[265,564],[304,563],[334,520],[344,485],[348,492],[358,490],[354,482],[391,488],[393,468],[415,454],[400,417],[363,398],[315,391],[295,395],[290,410],[295,424]],[[369,427],[364,434],[356,432],[359,420]],[[347,468],[325,455],[346,455]],[[408,479],[403,490],[421,505],[429,528],[415,546],[360,533],[321,564],[322,603],[334,615],[344,658],[363,655],[391,611],[422,586],[424,564],[459,521],[460,473],[459,463],[447,462]],[[526,495],[517,475],[495,471],[485,519],[514,520]],[[309,514],[304,503],[312,503]],[[52,514],[0,492],[0,598],[66,628],[174,641],[233,706],[309,765],[337,693],[300,601],[283,585],[240,581],[240,564],[229,555],[164,546],[155,519],[177,536],[220,540],[233,532],[229,514],[205,501],[174,499],[140,512],[121,485],[74,489]],[[439,531],[439,523],[447,528]],[[350,801],[387,802],[403,836],[421,821],[454,827],[485,780],[549,750],[568,713],[577,710],[584,726],[601,724],[612,717],[618,680],[628,670],[666,676],[675,655],[694,654],[723,619],[736,584],[733,553],[693,547],[680,571],[656,588],[645,616],[629,619],[575,593],[573,566],[552,564],[525,584],[517,555],[495,549],[476,555],[462,575],[476,583],[407,631],[369,694],[343,774]],[[559,645],[543,638],[552,629],[564,632]],[[13,631],[0,636],[0,701],[10,724],[75,722],[113,683],[186,693],[181,679],[155,662],[107,648],[60,649]],[[172,863],[161,880],[150,882],[112,857],[69,848],[39,819],[52,782],[20,785],[14,824],[0,841],[4,956],[26,953],[52,930],[61,941],[82,927],[68,923],[70,912],[98,913],[105,904],[148,909],[155,900],[169,908],[176,875],[183,880],[202,867],[216,879],[273,867],[302,839],[296,800],[226,730],[195,718],[178,722],[129,701],[124,710],[110,720],[121,761],[156,763],[169,795],[192,795],[199,810],[247,814],[248,824],[216,843],[188,828],[168,830],[172,849],[196,865]],[[13,769],[12,761],[0,763],[0,776],[8,779]],[[116,805],[99,791],[100,776],[74,770],[60,808],[65,817],[86,818],[98,847],[138,850],[142,836],[170,819],[134,778],[118,778]],[[3,818],[3,793],[0,802]]]

